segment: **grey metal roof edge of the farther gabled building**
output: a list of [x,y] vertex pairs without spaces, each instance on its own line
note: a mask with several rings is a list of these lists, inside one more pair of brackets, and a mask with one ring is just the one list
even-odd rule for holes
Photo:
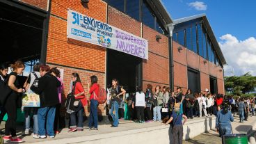
[[221,48],[218,45],[218,42],[217,42],[216,37],[214,35],[214,31],[212,31],[211,25],[209,24],[209,21],[208,21],[208,19],[207,19],[205,14],[193,15],[191,17],[184,17],[184,18],[181,18],[181,19],[175,19],[173,21],[173,23],[174,24],[180,24],[182,22],[188,22],[190,20],[198,19],[198,18],[202,18],[203,24],[205,24],[205,26],[207,28],[207,32],[209,34],[209,37],[211,39],[212,44],[214,45],[214,48],[216,50],[216,54],[218,55],[218,58],[220,58],[220,60],[221,60],[221,63],[223,65],[227,65],[227,62],[225,61],[225,58],[224,58],[223,53],[221,51]]

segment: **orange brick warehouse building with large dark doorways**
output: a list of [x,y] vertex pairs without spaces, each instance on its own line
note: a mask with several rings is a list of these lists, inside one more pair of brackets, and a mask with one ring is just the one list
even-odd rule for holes
[[[0,62],[10,63],[22,59],[30,66],[40,61],[51,67],[61,68],[65,95],[69,90],[72,72],[79,73],[85,90],[91,75],[97,75],[102,87],[111,84],[111,79],[117,78],[128,93],[134,92],[136,86],[143,86],[145,89],[148,83],[153,86],[170,86],[172,89],[181,86],[185,89],[190,86],[189,79],[198,77],[200,81],[195,81],[199,83],[199,87],[195,90],[199,88],[199,91],[205,91],[207,88],[224,93],[225,58],[205,16],[193,18],[206,22],[217,63],[215,59],[212,63],[208,57],[203,58],[199,51],[189,50],[179,40],[172,40],[179,38],[176,35],[180,30],[178,26],[186,23],[185,20],[190,22],[193,19],[173,21],[158,0],[93,0],[88,3],[80,0],[23,0],[1,1],[0,7],[1,31],[4,32],[1,33],[1,40],[6,47],[3,51],[4,54],[11,54],[1,54]],[[148,59],[67,38],[68,10],[93,17],[147,40]],[[200,45],[196,47],[200,49]],[[13,53],[14,50],[17,53]],[[86,113],[87,109],[86,107]],[[101,113],[105,113],[104,105],[100,105],[99,109],[102,110]]]

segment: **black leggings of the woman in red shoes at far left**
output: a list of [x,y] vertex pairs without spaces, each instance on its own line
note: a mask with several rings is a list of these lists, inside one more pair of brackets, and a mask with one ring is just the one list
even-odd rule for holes
[[6,121],[6,132],[5,135],[16,135],[16,119],[17,119],[17,93],[13,92],[11,93],[8,98],[6,99],[6,112],[8,115],[8,120]]

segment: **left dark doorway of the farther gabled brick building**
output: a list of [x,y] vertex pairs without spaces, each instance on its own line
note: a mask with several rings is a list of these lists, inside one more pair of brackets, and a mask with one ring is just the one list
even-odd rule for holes
[[189,88],[193,93],[200,93],[200,74],[198,71],[188,68],[188,83]]

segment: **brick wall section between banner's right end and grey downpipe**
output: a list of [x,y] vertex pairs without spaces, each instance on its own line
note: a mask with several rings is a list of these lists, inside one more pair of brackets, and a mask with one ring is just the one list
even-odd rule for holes
[[[159,42],[156,35],[161,35]],[[143,61],[143,89],[148,81],[157,85],[169,86],[168,38],[143,24],[143,38],[148,40],[148,60]],[[153,85],[154,85],[153,84]]]

